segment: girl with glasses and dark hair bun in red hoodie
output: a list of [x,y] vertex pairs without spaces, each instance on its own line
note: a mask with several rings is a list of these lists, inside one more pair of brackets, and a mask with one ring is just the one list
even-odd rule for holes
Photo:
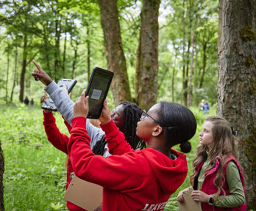
[[163,210],[171,193],[184,181],[188,166],[186,156],[171,147],[180,144],[190,152],[188,142],[196,132],[192,112],[177,103],[157,103],[143,112],[137,136],[148,148],[134,150],[124,134],[113,124],[104,102],[102,129],[112,156],[103,158],[90,149],[85,129],[88,97],[85,91],[74,105],[68,156],[77,177],[104,187],[102,210]]

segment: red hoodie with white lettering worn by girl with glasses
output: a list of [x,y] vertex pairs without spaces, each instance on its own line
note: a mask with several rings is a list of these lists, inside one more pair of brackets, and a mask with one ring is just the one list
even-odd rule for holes
[[104,187],[103,210],[163,210],[187,175],[185,155],[171,150],[177,157],[172,160],[152,148],[133,150],[113,121],[102,126],[109,147],[116,152],[108,158],[91,151],[84,117],[72,119],[72,125],[68,156],[74,173]]

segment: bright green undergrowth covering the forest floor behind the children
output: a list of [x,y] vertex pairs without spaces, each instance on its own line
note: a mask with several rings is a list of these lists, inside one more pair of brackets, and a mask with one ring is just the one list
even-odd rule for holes
[[[34,105],[0,107],[0,141],[4,151],[4,205],[6,210],[67,210],[65,199],[66,155],[55,149],[43,129],[42,109]],[[167,210],[177,210],[176,197],[179,190],[187,188],[191,174],[192,160],[199,143],[199,131],[206,117],[216,115],[216,108],[210,114],[203,114],[199,108],[191,108],[198,123],[196,135],[191,139],[192,151],[187,154],[188,176],[181,187],[172,194]],[[57,126],[68,135],[59,113],[54,113]],[[179,147],[174,149],[179,150]],[[171,179],[171,178],[170,178]]]

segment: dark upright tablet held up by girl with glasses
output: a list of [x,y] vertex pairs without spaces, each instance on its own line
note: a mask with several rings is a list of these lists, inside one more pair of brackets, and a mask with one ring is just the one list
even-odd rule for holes
[[114,73],[94,67],[85,96],[89,96],[88,119],[99,119]]

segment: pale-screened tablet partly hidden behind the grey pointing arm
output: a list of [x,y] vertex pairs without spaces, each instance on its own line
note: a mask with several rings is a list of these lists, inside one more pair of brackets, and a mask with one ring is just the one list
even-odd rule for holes
[[[68,94],[69,94],[76,84],[77,84],[77,80],[61,78],[60,81],[58,82],[57,86],[63,87],[63,89],[67,89]],[[43,103],[41,108],[49,110],[49,111],[57,111],[57,108],[54,105],[53,100],[51,100],[51,97],[48,97],[46,99],[46,102]]]

